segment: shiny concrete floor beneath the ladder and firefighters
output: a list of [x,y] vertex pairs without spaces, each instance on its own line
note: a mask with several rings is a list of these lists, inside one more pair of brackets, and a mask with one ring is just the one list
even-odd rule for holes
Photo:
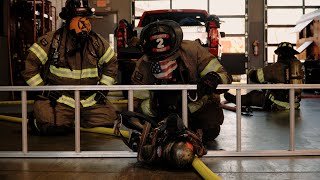
[[[15,112],[20,107],[16,107]],[[12,107],[0,108],[10,114]],[[296,149],[320,149],[320,98],[303,99],[296,111]],[[236,150],[236,114],[225,110],[216,150]],[[242,116],[242,150],[288,150],[289,112],[254,111]],[[0,121],[0,151],[21,151],[21,125]],[[29,136],[30,151],[74,151],[74,136]],[[129,150],[120,138],[81,132],[81,150]],[[320,156],[202,157],[222,179],[320,179]],[[174,170],[137,163],[136,158],[0,158],[0,180],[202,179],[193,168]]]

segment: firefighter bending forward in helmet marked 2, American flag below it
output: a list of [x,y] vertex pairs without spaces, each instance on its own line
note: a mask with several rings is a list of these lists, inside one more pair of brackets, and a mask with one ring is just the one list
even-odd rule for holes
[[[196,84],[188,91],[188,127],[205,143],[214,142],[224,115],[218,84],[230,84],[231,76],[218,59],[196,41],[183,40],[182,29],[164,20],[145,26],[140,35],[144,55],[138,60],[132,83],[138,85]],[[136,111],[159,120],[171,113],[181,116],[181,91],[135,91]]]

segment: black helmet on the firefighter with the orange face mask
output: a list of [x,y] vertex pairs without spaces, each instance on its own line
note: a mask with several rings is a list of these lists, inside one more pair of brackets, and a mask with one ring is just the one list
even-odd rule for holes
[[88,0],[67,0],[59,16],[64,20],[70,20],[76,16],[92,16],[95,9],[89,7]]

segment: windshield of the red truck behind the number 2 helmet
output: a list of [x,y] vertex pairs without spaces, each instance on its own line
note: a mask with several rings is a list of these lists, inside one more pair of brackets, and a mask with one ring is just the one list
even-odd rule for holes
[[181,26],[204,26],[206,15],[197,12],[165,12],[145,14],[142,19],[142,27],[157,20],[173,20]]

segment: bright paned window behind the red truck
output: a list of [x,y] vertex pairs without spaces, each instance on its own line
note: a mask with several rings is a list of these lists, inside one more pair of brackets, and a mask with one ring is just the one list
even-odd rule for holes
[[[158,9],[201,9],[209,14],[217,15],[221,21],[220,31],[226,37],[221,38],[223,52],[245,53],[245,34],[247,21],[247,0],[135,0],[135,26],[139,23],[142,13]],[[232,6],[230,6],[232,4]]]

